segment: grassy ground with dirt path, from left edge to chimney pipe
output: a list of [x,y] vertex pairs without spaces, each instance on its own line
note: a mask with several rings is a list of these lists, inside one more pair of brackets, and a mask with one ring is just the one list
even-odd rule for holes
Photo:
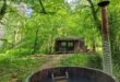
[[33,72],[51,67],[87,67],[101,69],[96,54],[0,56],[0,82],[25,82]]

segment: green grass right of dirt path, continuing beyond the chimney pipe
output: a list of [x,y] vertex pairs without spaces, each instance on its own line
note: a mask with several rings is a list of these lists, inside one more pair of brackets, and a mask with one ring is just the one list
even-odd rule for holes
[[[98,54],[71,55],[62,59],[58,66],[86,67],[103,70],[101,57]],[[113,77],[120,82],[120,66],[113,63]]]

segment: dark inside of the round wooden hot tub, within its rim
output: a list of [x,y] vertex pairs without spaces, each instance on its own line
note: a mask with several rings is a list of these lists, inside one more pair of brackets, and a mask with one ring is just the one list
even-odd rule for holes
[[58,67],[39,70],[26,82],[116,82],[110,75],[88,68]]

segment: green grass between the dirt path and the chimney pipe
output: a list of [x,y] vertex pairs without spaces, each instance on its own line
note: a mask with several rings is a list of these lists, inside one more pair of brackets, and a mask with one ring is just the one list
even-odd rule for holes
[[98,54],[77,54],[62,59],[59,66],[88,67],[101,69],[101,58]]

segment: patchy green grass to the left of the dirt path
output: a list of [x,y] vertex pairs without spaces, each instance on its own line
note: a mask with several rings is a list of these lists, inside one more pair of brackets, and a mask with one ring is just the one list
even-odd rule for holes
[[48,58],[36,59],[33,56],[7,56],[0,55],[0,82],[24,82],[32,72],[50,60]]

